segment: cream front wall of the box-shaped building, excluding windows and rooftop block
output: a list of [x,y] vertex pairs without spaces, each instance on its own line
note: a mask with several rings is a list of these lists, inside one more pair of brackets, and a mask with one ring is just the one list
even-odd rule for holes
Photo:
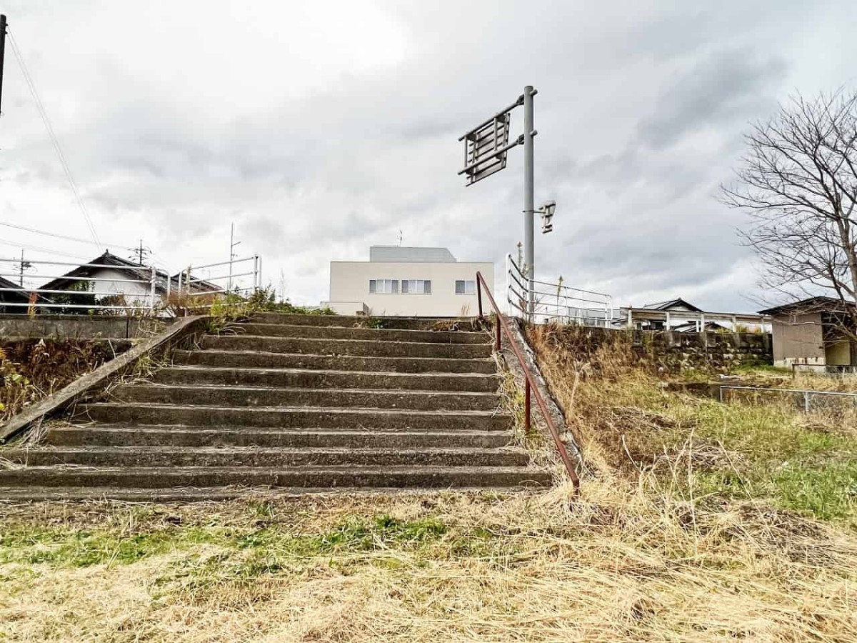
[[[455,281],[475,281],[477,270],[494,284],[494,264],[488,262],[331,261],[330,301],[325,303],[335,310],[339,303],[349,303],[350,309],[365,303],[369,315],[474,316],[479,314],[476,292],[455,294]],[[370,294],[369,279],[430,279],[431,294]]]

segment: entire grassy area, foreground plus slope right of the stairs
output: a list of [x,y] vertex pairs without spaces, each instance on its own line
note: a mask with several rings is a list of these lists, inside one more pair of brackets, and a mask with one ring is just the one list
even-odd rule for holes
[[857,640],[854,424],[533,339],[584,445],[579,501],[7,507],[0,640]]

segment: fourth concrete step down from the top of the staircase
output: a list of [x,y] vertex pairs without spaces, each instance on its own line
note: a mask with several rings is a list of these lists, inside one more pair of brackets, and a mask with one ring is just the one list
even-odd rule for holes
[[359,370],[383,373],[478,373],[494,375],[494,358],[380,358],[254,351],[175,351],[175,364],[225,368]]

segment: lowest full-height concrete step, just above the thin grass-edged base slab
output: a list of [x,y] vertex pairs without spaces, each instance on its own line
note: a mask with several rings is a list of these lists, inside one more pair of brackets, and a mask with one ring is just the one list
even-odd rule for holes
[[524,466],[242,466],[103,467],[27,466],[0,470],[4,487],[116,487],[170,489],[249,485],[267,487],[455,488],[547,485],[549,472]]

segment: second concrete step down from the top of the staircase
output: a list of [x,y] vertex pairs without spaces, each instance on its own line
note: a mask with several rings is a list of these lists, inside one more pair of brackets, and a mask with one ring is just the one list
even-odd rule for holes
[[487,344],[487,333],[463,333],[432,330],[399,330],[389,328],[341,328],[338,326],[302,326],[298,324],[242,323],[226,334],[248,334],[260,337],[297,337],[308,340],[409,341],[432,344]]

